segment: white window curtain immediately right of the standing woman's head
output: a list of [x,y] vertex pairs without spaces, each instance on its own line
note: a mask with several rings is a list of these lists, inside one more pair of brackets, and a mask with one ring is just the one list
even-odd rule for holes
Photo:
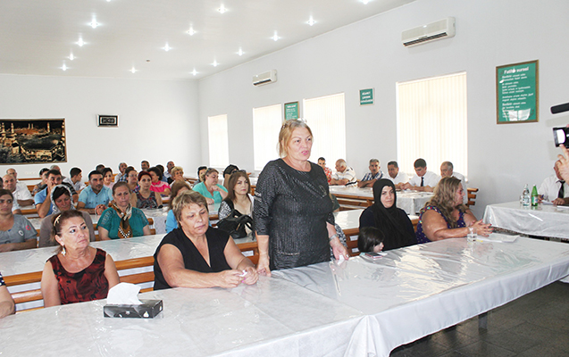
[[326,95],[303,101],[306,124],[314,135],[311,162],[319,157],[334,167],[338,159],[346,159],[346,108],[344,94]]

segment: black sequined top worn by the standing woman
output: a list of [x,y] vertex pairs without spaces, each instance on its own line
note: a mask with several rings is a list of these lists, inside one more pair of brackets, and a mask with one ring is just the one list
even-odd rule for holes
[[268,162],[255,188],[255,230],[269,236],[270,268],[287,269],[330,260],[326,222],[334,224],[328,179],[310,162],[309,172],[282,159]]

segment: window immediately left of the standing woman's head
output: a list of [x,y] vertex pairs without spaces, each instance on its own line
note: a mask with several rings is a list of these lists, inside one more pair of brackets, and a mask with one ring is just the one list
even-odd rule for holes
[[255,170],[263,170],[264,165],[279,158],[277,142],[282,125],[280,104],[253,108],[253,146]]

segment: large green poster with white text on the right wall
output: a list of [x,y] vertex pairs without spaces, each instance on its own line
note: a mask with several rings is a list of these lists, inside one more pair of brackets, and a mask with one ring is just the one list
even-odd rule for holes
[[498,124],[539,120],[539,61],[496,67]]

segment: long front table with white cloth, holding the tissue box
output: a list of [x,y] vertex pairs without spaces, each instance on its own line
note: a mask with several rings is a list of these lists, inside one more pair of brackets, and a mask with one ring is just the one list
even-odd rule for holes
[[105,319],[105,300],[21,313],[0,320],[0,348],[6,355],[388,356],[568,274],[569,245],[447,239],[377,262],[273,271],[255,286],[141,294],[163,300],[154,320]]

